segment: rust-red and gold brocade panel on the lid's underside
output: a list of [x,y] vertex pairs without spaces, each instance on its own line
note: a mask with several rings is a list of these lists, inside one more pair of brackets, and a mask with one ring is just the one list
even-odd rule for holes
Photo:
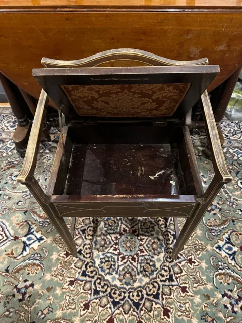
[[153,117],[171,116],[190,83],[62,85],[80,116]]

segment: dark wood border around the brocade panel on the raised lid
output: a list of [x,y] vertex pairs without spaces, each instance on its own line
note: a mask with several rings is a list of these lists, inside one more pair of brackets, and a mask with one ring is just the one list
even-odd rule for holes
[[82,119],[75,113],[61,85],[96,84],[161,84],[191,83],[173,118],[185,117],[219,73],[216,65],[34,69],[33,76],[56,106],[62,105],[66,117]]

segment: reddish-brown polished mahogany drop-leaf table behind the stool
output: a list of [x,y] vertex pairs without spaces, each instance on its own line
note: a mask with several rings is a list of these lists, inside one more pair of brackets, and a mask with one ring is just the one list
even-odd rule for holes
[[[220,65],[208,89],[220,122],[242,66],[241,39],[242,0],[0,0],[1,80],[22,127],[18,149],[29,133],[25,102],[34,113],[40,94],[32,69],[43,56],[74,60],[137,48],[174,60],[207,57]],[[16,99],[21,94],[25,100]]]

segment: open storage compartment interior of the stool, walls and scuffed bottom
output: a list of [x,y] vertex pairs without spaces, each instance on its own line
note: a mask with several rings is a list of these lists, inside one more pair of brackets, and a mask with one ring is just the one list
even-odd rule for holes
[[178,126],[71,124],[65,157],[54,195],[196,194]]

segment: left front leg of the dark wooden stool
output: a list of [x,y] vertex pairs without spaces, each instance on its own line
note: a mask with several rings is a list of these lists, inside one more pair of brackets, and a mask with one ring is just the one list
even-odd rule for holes
[[48,218],[52,222],[54,228],[57,230],[58,234],[62,237],[64,242],[66,243],[68,249],[70,250],[73,257],[77,256],[77,248],[73,237],[64,221],[63,218],[59,217],[57,214],[57,210],[53,204],[49,203],[48,196],[44,193],[39,183],[33,178],[32,183],[26,183],[26,186],[36,198],[40,206],[43,208]]

